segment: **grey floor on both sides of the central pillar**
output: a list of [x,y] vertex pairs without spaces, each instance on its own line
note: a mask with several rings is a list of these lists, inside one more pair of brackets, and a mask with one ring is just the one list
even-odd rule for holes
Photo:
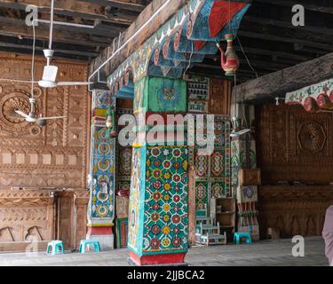
[[[186,263],[195,266],[328,266],[320,237],[305,238],[305,257],[292,256],[293,245],[291,240],[280,240],[259,241],[252,245],[196,247],[189,249]],[[0,254],[0,265],[124,266],[128,265],[128,255],[128,249],[58,256],[47,256],[42,252],[3,253]]]

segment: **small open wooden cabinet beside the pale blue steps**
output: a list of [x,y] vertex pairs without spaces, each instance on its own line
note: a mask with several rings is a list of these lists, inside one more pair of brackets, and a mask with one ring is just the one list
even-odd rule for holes
[[219,223],[221,233],[226,232],[227,240],[233,241],[236,205],[234,198],[212,198],[210,199],[210,214]]

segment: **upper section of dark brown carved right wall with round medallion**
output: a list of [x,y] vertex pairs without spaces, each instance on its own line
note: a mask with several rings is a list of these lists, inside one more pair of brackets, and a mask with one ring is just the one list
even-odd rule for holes
[[267,105],[258,107],[256,120],[263,184],[333,182],[333,114]]

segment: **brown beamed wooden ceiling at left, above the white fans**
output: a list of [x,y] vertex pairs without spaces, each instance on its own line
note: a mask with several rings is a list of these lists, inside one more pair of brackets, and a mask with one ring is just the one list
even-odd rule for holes
[[[55,57],[90,61],[126,30],[152,0],[56,0],[54,20],[94,28],[54,25]],[[0,51],[30,53],[32,28],[25,23],[28,4],[38,7],[38,19],[50,20],[50,0],[0,1]],[[49,24],[36,27],[36,53],[48,45]]]

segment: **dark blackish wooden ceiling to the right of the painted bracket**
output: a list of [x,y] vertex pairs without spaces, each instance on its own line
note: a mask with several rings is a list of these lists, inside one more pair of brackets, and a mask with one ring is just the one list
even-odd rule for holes
[[[294,27],[291,23],[294,4],[305,7],[305,27]],[[258,76],[321,57],[333,51],[333,1],[254,0],[242,20],[238,37]],[[256,78],[239,41],[234,45],[241,59],[239,80]],[[210,74],[221,75],[219,60],[218,54],[207,57],[192,71],[207,74],[209,69]]]

